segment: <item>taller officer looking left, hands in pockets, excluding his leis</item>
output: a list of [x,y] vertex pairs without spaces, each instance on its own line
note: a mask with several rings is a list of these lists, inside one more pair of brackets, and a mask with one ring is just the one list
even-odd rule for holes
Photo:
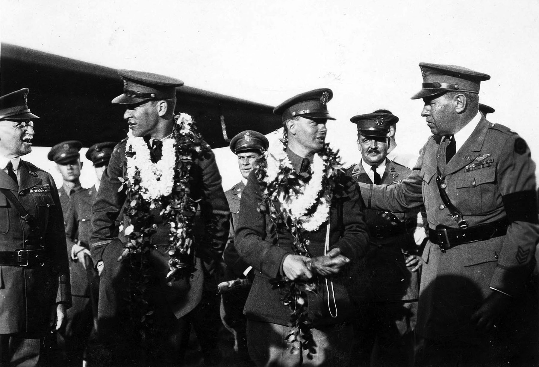
[[[146,142],[136,150],[142,150],[139,152],[142,157],[148,150],[152,163],[161,163],[165,156],[164,147],[173,138],[176,125],[176,87],[182,86],[183,81],[135,70],[119,70],[119,75],[123,80],[123,93],[115,97],[112,103],[125,106],[123,118],[129,125],[130,135],[143,138]],[[128,139],[114,147],[92,207],[92,233],[89,239],[94,263],[103,269],[99,287],[98,323],[105,355],[100,356],[99,363],[181,363],[192,324],[202,347],[204,362],[207,365],[218,364],[215,344],[220,326],[219,296],[206,291],[206,287],[213,280],[215,267],[222,259],[229,234],[230,213],[215,155],[203,140],[195,140],[193,144],[198,145],[189,152],[192,161],[189,163],[189,183],[185,187],[195,208],[198,206],[201,209],[201,222],[195,222],[193,229],[200,236],[193,239],[192,246],[196,248],[188,254],[195,270],[190,277],[167,282],[170,270],[167,250],[170,224],[163,222],[161,210],[165,208],[150,207],[148,204],[143,213],[149,215],[151,229],[155,229],[155,233],[148,239],[153,248],[146,255],[134,256],[135,260],[142,259],[142,256],[148,258],[152,274],[145,287],[149,292],[148,307],[153,313],[144,316],[151,319],[152,323],[148,326],[142,344],[139,343],[137,331],[140,319],[129,320],[129,313],[125,312],[127,307],[135,309],[141,306],[126,304],[123,298],[127,296],[125,280],[131,262],[125,258],[124,246],[128,234],[124,230],[130,224],[129,207],[132,199],[129,197],[132,194],[127,192],[121,181],[128,178],[129,174],[125,170]],[[129,154],[135,154],[136,157],[136,150],[133,148]],[[178,195],[178,189],[181,188],[177,187],[169,195]],[[145,199],[139,200],[147,202]],[[187,218],[185,220],[188,221]],[[190,224],[185,225],[189,228]],[[133,255],[130,256],[133,259]]]

